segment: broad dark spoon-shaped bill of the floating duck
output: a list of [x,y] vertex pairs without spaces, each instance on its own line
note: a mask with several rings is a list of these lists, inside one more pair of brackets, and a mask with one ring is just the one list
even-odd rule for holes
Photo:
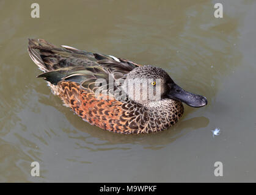
[[167,96],[171,99],[184,102],[191,107],[202,107],[207,105],[207,99],[205,97],[185,91],[175,83],[169,84],[169,88],[170,91]]

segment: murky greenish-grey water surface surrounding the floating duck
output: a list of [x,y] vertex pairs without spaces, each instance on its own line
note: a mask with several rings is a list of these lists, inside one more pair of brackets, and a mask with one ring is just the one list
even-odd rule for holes
[[[0,1],[0,182],[256,181],[256,1],[37,1],[31,18],[33,2]],[[27,38],[159,66],[208,105],[164,132],[106,132],[35,78]]]

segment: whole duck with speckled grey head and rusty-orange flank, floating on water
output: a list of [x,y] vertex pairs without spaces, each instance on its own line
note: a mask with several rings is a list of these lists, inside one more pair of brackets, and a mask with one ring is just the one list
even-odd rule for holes
[[30,39],[28,53],[43,71],[37,77],[66,107],[93,126],[115,133],[159,132],[174,126],[207,98],[179,87],[162,68],[113,55]]

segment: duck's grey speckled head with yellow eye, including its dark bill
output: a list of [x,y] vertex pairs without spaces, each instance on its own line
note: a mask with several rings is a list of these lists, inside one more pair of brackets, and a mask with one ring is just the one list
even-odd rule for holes
[[183,90],[164,69],[151,65],[139,66],[130,71],[124,86],[126,86],[125,91],[128,97],[140,104],[158,102],[161,99],[174,99],[191,107],[207,105],[207,98]]

